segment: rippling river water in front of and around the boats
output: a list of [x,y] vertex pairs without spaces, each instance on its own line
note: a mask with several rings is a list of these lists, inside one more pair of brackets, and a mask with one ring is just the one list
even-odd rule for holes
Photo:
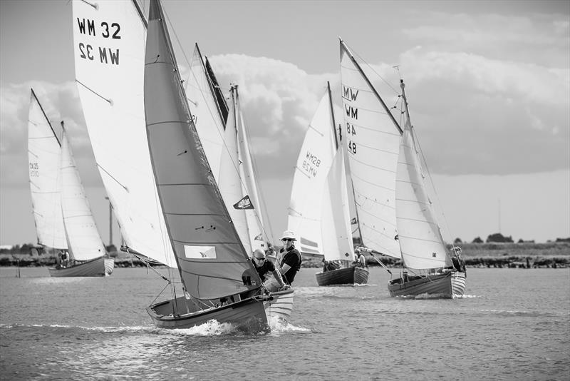
[[289,324],[269,334],[212,322],[152,326],[165,285],[141,268],[48,278],[0,268],[5,380],[570,380],[570,270],[469,269],[461,299],[389,298],[370,285],[295,282]]

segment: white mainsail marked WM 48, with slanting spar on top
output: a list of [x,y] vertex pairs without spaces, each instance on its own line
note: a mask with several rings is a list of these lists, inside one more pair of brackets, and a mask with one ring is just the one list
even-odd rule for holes
[[343,41],[341,85],[343,141],[363,244],[400,258],[395,212],[399,126]]

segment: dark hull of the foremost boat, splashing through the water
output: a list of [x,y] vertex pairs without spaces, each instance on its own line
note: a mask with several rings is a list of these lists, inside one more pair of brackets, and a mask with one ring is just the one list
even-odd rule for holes
[[[293,307],[293,290],[275,294],[247,298],[207,310],[199,310],[192,301],[177,298],[151,305],[147,308],[147,313],[154,325],[160,328],[185,329],[202,325],[209,320],[216,320],[220,323],[229,323],[237,330],[268,332],[268,316],[289,317]],[[290,303],[286,301],[289,298],[291,298]],[[277,303],[280,299],[283,303]],[[177,310],[178,313],[173,313],[173,310]]]

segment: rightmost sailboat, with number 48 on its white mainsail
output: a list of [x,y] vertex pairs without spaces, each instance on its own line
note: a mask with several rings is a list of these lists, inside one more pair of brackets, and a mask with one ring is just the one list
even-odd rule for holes
[[345,148],[363,249],[401,258],[400,278],[388,283],[390,296],[463,295],[465,272],[452,265],[457,249],[447,249],[437,225],[403,81],[402,128],[351,50],[340,44]]

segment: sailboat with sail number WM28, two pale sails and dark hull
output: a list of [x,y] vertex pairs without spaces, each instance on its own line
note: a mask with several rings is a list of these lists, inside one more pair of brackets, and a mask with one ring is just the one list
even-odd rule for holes
[[298,231],[304,255],[323,256],[343,267],[316,273],[318,285],[368,282],[368,270],[354,267],[344,150],[338,147],[331,86],[318,103],[297,159],[288,229]]

